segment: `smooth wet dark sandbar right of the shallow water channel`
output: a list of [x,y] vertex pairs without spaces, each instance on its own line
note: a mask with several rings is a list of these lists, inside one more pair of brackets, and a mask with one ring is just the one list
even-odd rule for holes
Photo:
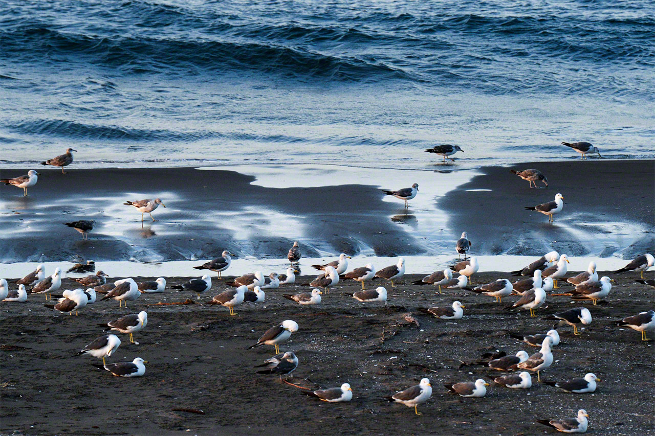
[[[530,189],[510,172],[536,168],[548,189]],[[655,249],[655,161],[532,162],[481,168],[438,200],[449,227],[468,231],[478,254],[542,255],[556,249],[573,256],[619,253],[624,259]],[[525,206],[564,196],[555,222]]]

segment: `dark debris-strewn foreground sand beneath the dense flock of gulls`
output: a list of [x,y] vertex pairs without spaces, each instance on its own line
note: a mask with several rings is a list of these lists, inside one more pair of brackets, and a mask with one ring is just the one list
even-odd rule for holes
[[[548,191],[551,192],[551,191]],[[606,274],[601,272],[601,275]],[[649,273],[648,276],[651,276]],[[490,282],[506,273],[474,276]],[[610,274],[610,276],[614,276]],[[202,306],[149,306],[159,301],[181,301],[195,295],[176,293],[143,295],[129,308],[113,300],[96,302],[79,316],[58,314],[43,307],[45,298],[1,303],[0,344],[2,371],[0,431],[21,434],[332,434],[332,433],[436,433],[449,435],[535,434],[548,431],[536,419],[574,416],[589,412],[589,433],[594,435],[653,434],[655,401],[652,395],[653,342],[612,325],[615,319],[652,308],[652,289],[633,282],[639,274],[615,276],[612,292],[599,306],[570,304],[568,297],[551,297],[538,318],[527,312],[500,310],[493,298],[468,291],[445,291],[409,285],[421,276],[405,276],[389,289],[387,304],[362,304],[345,296],[360,289],[343,282],[324,295],[320,306],[303,307],[283,299],[283,293],[307,289],[300,285],[267,291],[263,304],[244,304],[229,316],[227,308]],[[112,278],[115,280],[116,278]],[[187,278],[170,278],[168,286]],[[299,278],[305,283],[309,277]],[[377,282],[376,285],[382,284]],[[71,287],[69,279],[64,287]],[[214,287],[207,301],[224,285]],[[422,315],[417,307],[466,305],[464,319],[443,321]],[[565,380],[594,372],[602,382],[593,394],[563,393],[536,383],[531,390],[489,386],[487,396],[464,399],[448,393],[445,382],[491,380],[498,372],[484,367],[458,370],[460,360],[474,360],[484,352],[518,350],[536,352],[510,337],[510,333],[547,331],[548,314],[586,306],[593,323],[573,336],[559,328],[561,344],[555,363],[543,372],[545,380]],[[91,366],[100,359],[77,356],[77,350],[102,335],[98,323],[124,314],[147,310],[149,323],[136,333],[139,345],[122,340],[109,361],[149,361],[145,376],[117,378]],[[408,325],[403,316],[412,312],[421,324]],[[294,319],[300,329],[282,350],[293,350],[299,367],[291,382],[308,388],[340,386],[354,390],[350,403],[328,404],[301,395],[276,376],[255,374],[258,365],[273,354],[271,346],[246,350],[274,323]],[[649,333],[652,338],[653,333]],[[422,416],[398,404],[383,401],[430,378],[434,393],[419,407]],[[173,411],[198,409],[204,414]]]

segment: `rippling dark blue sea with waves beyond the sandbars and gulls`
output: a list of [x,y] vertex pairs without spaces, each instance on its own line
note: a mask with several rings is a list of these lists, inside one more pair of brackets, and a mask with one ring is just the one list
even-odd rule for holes
[[5,0],[0,160],[652,156],[648,1]]

